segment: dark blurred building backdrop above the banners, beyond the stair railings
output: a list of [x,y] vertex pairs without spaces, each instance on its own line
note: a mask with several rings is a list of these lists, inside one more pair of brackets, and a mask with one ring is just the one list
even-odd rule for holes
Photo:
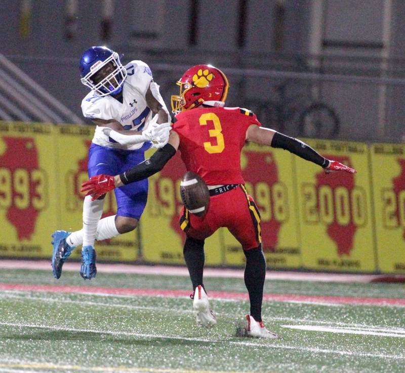
[[294,116],[321,101],[336,138],[405,139],[402,0],[5,0],[0,14],[1,53],[80,117],[80,55],[106,45],[148,63],[168,106],[182,72],[211,63],[227,104],[268,127],[299,134]]

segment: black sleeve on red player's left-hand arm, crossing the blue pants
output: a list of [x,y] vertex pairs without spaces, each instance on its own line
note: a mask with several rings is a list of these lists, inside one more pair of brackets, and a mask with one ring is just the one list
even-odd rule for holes
[[176,149],[171,144],[166,144],[155,152],[152,157],[145,159],[142,163],[137,164],[128,171],[120,173],[119,178],[124,184],[146,179],[159,172],[175,154]]

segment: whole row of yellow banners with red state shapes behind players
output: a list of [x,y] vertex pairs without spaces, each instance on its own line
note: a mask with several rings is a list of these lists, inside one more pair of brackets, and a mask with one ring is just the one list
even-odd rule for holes
[[[51,258],[55,230],[82,229],[79,190],[88,179],[93,133],[93,126],[0,122],[0,256]],[[405,273],[405,145],[305,141],[358,172],[327,175],[286,151],[244,148],[242,172],[261,213],[268,267]],[[96,242],[98,260],[184,264],[178,223],[184,173],[177,154],[149,178],[139,229]],[[109,193],[103,217],[115,213]],[[205,248],[208,266],[245,264],[226,229]],[[80,249],[72,257],[78,259]]]

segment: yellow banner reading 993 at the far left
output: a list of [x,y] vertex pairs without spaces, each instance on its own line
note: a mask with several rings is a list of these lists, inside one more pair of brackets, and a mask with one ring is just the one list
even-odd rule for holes
[[52,255],[50,232],[58,225],[54,133],[48,124],[0,122],[0,256]]

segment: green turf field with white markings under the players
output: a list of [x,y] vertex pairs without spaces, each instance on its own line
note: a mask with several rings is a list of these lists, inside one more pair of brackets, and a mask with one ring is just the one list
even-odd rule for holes
[[[1,270],[0,283],[190,289],[186,277]],[[245,291],[242,279],[206,281],[208,290]],[[405,297],[403,284],[268,281],[280,294]],[[405,308],[265,302],[278,340],[235,337],[246,301],[214,299],[218,324],[195,326],[187,297],[0,291],[0,372],[401,372]]]

